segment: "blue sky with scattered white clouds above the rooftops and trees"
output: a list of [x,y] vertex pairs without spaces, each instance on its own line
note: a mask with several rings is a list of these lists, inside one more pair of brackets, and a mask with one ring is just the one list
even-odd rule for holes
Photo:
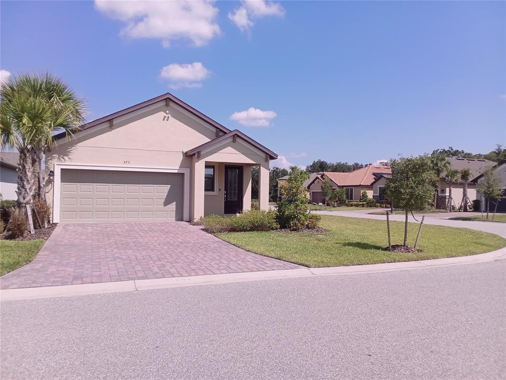
[[281,166],[506,141],[504,2],[0,4],[3,76],[50,71],[89,119],[169,91]]

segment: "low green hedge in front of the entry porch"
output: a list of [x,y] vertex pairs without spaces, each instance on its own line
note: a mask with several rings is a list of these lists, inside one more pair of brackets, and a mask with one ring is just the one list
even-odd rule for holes
[[220,232],[270,231],[279,228],[275,210],[250,210],[236,216],[209,215],[202,218],[206,231]]

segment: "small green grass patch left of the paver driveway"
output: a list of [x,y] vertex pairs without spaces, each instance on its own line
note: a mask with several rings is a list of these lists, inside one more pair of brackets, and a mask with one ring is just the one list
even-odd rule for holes
[[46,240],[0,240],[0,276],[28,264],[44,243]]

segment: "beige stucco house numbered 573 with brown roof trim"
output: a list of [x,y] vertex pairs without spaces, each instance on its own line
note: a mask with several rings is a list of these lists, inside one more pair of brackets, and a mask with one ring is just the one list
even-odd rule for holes
[[55,222],[196,220],[269,208],[270,149],[164,94],[64,133],[46,154]]

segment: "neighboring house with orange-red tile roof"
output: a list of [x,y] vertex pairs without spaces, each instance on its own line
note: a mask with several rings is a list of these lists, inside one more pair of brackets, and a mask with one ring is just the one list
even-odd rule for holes
[[344,187],[346,199],[360,201],[362,191],[366,191],[369,198],[373,198],[373,183],[382,174],[392,173],[389,166],[369,165],[349,173],[322,172],[317,174],[308,184],[311,203],[325,203],[325,196],[321,191],[321,185],[325,178],[329,178],[332,187]]

